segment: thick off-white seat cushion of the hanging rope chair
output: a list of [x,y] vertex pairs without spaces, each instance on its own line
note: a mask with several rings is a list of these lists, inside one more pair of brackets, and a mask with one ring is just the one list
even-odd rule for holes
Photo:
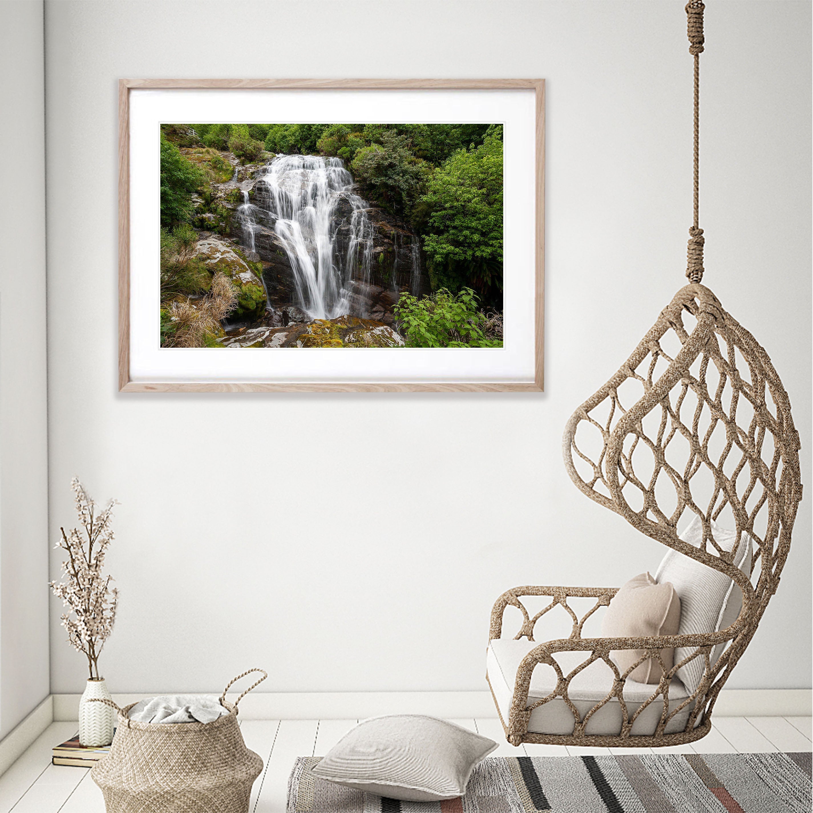
[[[525,655],[539,646],[538,642],[513,641],[506,638],[497,638],[489,643],[486,659],[486,675],[491,685],[494,699],[497,702],[502,720],[508,723],[508,714],[511,711],[511,697],[514,694],[516,673]],[[554,659],[559,663],[564,675],[571,672],[580,663],[589,657],[588,652],[557,652]],[[611,692],[615,676],[610,667],[602,660],[594,661],[570,682],[567,691],[568,697],[576,706],[579,715],[584,719],[596,703],[601,702]],[[541,698],[547,697],[556,688],[556,672],[553,667],[540,664],[533,671],[531,687],[528,692],[528,705],[533,706]],[[626,680],[624,683],[624,702],[627,704],[629,715],[637,711],[638,706],[657,691],[657,686],[637,683]],[[689,693],[674,678],[669,686],[669,710],[673,711],[680,703],[689,697]],[[689,719],[692,704],[681,709],[666,727],[666,733],[671,734],[682,731]],[[655,733],[661,712],[663,711],[663,698],[656,698],[646,707],[633,724],[633,735],[651,736]],[[622,724],[621,706],[616,698],[606,702],[588,721],[585,733],[591,735],[612,735],[621,732]],[[528,722],[528,732],[541,734],[572,734],[575,721],[572,711],[562,698],[556,698],[539,706],[531,712]]]

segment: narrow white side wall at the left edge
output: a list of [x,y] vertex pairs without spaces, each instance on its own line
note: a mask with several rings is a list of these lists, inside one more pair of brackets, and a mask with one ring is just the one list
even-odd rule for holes
[[0,2],[0,737],[48,694],[41,2]]

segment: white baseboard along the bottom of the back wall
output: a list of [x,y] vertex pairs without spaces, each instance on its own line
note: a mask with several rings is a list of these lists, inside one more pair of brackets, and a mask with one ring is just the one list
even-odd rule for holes
[[[149,695],[146,695],[149,696]],[[723,689],[720,717],[809,717],[811,689]],[[78,720],[78,694],[54,694],[54,720]],[[143,694],[114,694],[120,706]],[[237,694],[228,695],[234,701]],[[489,692],[255,692],[240,703],[242,720],[353,720],[387,714],[493,717]]]

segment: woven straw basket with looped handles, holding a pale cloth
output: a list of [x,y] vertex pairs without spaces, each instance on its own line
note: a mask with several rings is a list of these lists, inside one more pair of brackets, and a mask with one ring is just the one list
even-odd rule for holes
[[220,705],[228,715],[205,724],[136,723],[129,718],[135,703],[122,709],[97,701],[119,711],[110,754],[90,772],[102,789],[107,813],[247,813],[263,760],[246,748],[237,704],[254,686],[234,705],[226,702],[224,690]]

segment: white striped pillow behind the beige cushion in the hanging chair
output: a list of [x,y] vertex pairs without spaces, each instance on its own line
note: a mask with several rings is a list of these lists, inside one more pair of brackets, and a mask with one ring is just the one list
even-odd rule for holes
[[[737,544],[737,533],[720,528],[720,525],[715,522],[711,523],[711,533],[715,542],[723,550],[733,550],[734,545]],[[680,538],[696,548],[702,545],[703,526],[700,517],[694,517],[689,527],[680,534]],[[752,557],[753,541],[747,533],[743,533],[733,564],[746,575],[750,575]],[[706,567],[696,559],[691,559],[676,550],[670,550],[663,557],[658,572],[655,573],[655,580],[659,584],[671,581],[675,592],[680,597],[678,635],[715,633],[733,624],[737,620],[737,615],[740,614],[742,593],[737,585],[724,573]],[[720,657],[724,646],[720,644],[712,650],[712,664]],[[680,663],[696,650],[696,646],[677,646],[675,663]],[[705,668],[705,659],[702,655],[698,655],[697,658],[680,667],[676,671],[676,676],[680,678],[689,693],[693,693],[700,685]]]

